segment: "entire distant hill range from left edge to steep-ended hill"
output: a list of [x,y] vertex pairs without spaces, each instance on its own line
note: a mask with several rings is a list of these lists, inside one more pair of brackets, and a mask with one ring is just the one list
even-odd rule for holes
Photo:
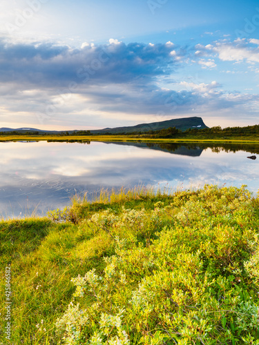
[[[93,134],[102,134],[102,133],[110,133],[110,134],[117,134],[117,133],[131,133],[131,132],[148,132],[148,130],[162,130],[169,127],[175,127],[180,129],[184,132],[189,128],[209,128],[207,127],[204,122],[202,121],[201,117],[184,117],[182,119],[171,119],[167,121],[160,121],[160,122],[151,122],[150,124],[139,124],[136,126],[127,126],[127,127],[115,127],[115,128],[104,128],[99,130],[91,130],[90,132]],[[68,130],[68,131],[61,131],[61,130],[39,130],[37,128],[28,128],[28,127],[21,127],[21,128],[0,128],[0,132],[12,132],[16,131],[19,133],[26,133],[26,132],[39,132],[39,134],[43,133],[50,133],[50,134],[60,134],[61,132],[68,132],[69,134],[81,132],[81,130]],[[87,129],[86,129],[87,130]]]

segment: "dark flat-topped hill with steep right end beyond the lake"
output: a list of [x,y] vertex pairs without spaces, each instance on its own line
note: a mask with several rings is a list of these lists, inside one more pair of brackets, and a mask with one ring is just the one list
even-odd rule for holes
[[160,122],[151,122],[151,124],[139,124],[136,126],[104,128],[102,130],[91,130],[92,133],[130,133],[130,132],[148,132],[148,130],[162,130],[169,127],[175,127],[184,132],[189,128],[209,128],[202,121],[201,117],[184,117],[182,119],[171,119]]

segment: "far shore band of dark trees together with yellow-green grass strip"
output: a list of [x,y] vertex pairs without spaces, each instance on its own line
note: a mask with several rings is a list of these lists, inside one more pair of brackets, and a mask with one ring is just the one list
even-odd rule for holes
[[204,142],[259,142],[259,125],[246,127],[220,126],[212,128],[190,128],[182,132],[178,128],[170,127],[162,130],[148,130],[146,132],[91,133],[90,130],[75,132],[38,132],[12,131],[0,132],[0,141],[204,141]]

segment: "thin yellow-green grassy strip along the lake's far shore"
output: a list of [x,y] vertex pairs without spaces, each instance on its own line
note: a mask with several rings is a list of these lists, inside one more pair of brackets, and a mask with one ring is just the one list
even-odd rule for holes
[[259,143],[258,136],[237,135],[219,137],[217,135],[178,135],[173,138],[152,138],[148,135],[1,135],[0,141],[50,141],[50,142],[88,142],[88,141],[144,141],[144,142],[204,142],[204,143]]

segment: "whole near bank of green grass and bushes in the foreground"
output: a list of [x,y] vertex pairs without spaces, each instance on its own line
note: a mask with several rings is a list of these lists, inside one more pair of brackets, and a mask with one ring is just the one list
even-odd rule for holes
[[259,344],[258,206],[245,188],[136,189],[1,221],[0,340]]

